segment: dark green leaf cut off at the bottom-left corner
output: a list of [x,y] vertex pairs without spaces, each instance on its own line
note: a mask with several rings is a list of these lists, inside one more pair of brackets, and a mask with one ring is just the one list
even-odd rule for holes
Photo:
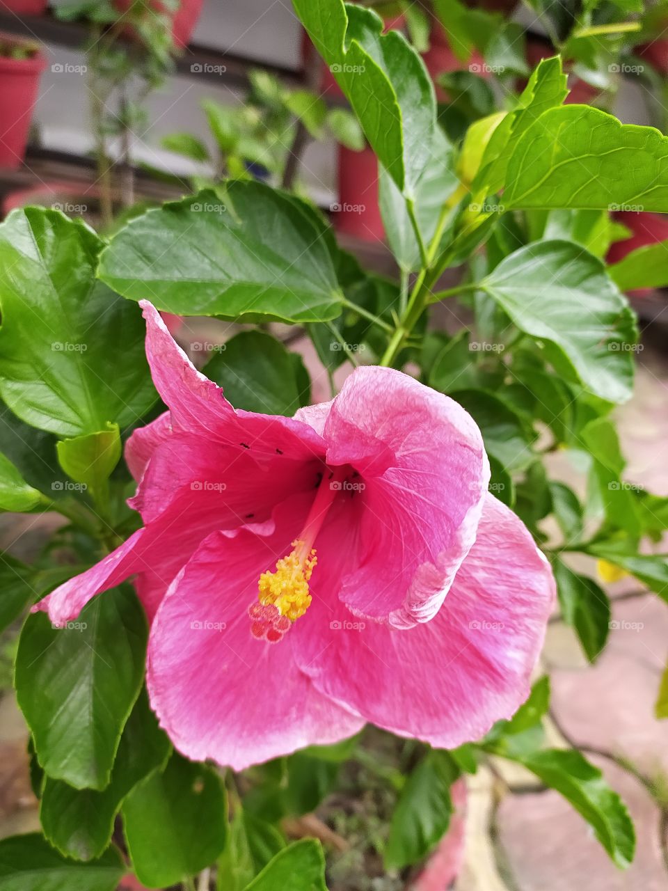
[[125,872],[115,847],[99,860],[77,863],[62,857],[37,833],[0,841],[1,891],[114,891]]

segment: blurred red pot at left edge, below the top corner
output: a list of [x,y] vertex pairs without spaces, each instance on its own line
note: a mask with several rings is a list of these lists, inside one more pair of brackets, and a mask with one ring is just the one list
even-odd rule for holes
[[[31,46],[9,34],[0,34],[0,41]],[[45,67],[46,59],[41,53],[35,53],[29,59],[0,56],[0,167],[18,168],[25,157],[39,78]]]

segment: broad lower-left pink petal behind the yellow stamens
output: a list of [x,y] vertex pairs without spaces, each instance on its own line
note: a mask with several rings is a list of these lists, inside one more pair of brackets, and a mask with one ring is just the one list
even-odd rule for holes
[[273,535],[240,529],[209,536],[160,606],[147,683],[161,726],[185,756],[242,770],[343,739],[363,724],[299,671],[294,628],[277,643],[250,633],[258,578],[289,552],[309,503],[298,496],[281,505]]

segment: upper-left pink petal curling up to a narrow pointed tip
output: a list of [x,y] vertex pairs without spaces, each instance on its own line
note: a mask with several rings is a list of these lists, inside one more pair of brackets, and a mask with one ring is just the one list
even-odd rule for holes
[[308,424],[275,415],[235,412],[222,388],[197,371],[167,331],[158,310],[140,300],[146,319],[146,357],[153,383],[170,410],[175,432],[252,452],[266,462],[276,454],[308,460],[324,454],[324,443]]

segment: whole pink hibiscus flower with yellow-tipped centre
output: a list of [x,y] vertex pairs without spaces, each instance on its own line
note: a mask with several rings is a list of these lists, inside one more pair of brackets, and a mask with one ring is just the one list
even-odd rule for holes
[[126,446],[144,526],[39,609],[71,620],[136,575],[161,725],[235,769],[366,722],[452,748],[512,715],[554,582],[468,413],[376,367],[294,418],[235,411],[143,313],[169,407]]

